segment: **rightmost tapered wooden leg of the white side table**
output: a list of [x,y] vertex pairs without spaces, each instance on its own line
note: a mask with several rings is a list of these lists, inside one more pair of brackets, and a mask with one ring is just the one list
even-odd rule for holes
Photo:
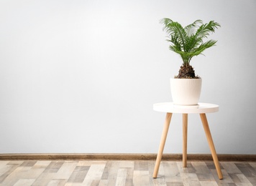
[[200,114],[200,117],[201,117],[201,121],[202,121],[203,126],[204,126],[204,131],[206,132],[206,137],[207,137],[207,140],[208,140],[208,143],[209,143],[212,158],[214,159],[214,165],[216,167],[217,174],[219,176],[219,179],[222,180],[223,176],[222,176],[221,168],[219,167],[219,160],[218,160],[218,157],[216,155],[216,150],[215,150],[215,147],[214,147],[214,141],[212,140],[212,137],[211,137],[211,132],[210,132],[210,129],[209,129],[209,124],[207,122],[206,114]]

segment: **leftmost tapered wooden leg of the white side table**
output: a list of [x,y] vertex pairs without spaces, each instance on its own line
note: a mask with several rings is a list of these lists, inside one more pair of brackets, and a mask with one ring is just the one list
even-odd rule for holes
[[172,118],[172,115],[173,115],[172,113],[166,113],[165,124],[164,124],[164,127],[163,127],[163,134],[162,134],[162,137],[161,137],[159,150],[158,150],[158,153],[157,153],[157,160],[155,162],[155,170],[154,170],[154,173],[153,173],[153,178],[157,178],[158,170],[159,170],[159,167],[160,167],[160,162],[162,160],[163,149],[165,147],[166,137],[167,137],[168,129],[169,129],[169,126],[170,126],[170,119]]

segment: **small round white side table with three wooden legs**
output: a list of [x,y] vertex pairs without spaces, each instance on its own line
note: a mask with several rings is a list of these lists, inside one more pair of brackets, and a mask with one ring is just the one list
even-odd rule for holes
[[187,136],[188,136],[188,114],[198,113],[201,117],[201,122],[204,126],[204,131],[206,133],[206,137],[209,143],[209,147],[211,150],[211,155],[214,159],[214,165],[216,167],[217,174],[219,179],[223,179],[221,169],[219,167],[219,160],[216,155],[216,150],[214,147],[214,142],[211,137],[211,132],[209,129],[209,124],[207,122],[206,113],[210,112],[218,112],[219,106],[216,104],[208,104],[208,103],[198,103],[198,107],[194,106],[177,106],[172,102],[164,102],[157,103],[153,105],[153,109],[158,112],[166,112],[165,124],[163,128],[163,134],[160,141],[160,147],[157,153],[157,160],[155,162],[155,170],[153,173],[153,178],[157,178],[158,170],[160,167],[160,162],[162,160],[163,149],[165,147],[165,140],[168,134],[168,129],[170,126],[170,119],[173,113],[181,113],[183,114],[183,167],[187,167]]

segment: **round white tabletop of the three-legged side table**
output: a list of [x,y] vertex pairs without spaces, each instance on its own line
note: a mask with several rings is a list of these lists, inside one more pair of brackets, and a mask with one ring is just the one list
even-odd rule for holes
[[153,104],[153,109],[158,112],[169,112],[169,113],[211,113],[218,112],[219,105],[209,103],[198,103],[198,106],[180,106],[173,104],[173,102],[163,102]]

